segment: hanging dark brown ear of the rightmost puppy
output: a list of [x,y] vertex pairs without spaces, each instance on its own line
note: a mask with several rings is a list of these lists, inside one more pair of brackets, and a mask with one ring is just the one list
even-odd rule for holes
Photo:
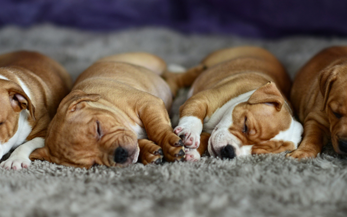
[[337,79],[337,70],[334,70],[335,68],[336,65],[330,68],[326,68],[322,70],[318,75],[319,87],[324,97],[321,111],[325,110],[331,86]]

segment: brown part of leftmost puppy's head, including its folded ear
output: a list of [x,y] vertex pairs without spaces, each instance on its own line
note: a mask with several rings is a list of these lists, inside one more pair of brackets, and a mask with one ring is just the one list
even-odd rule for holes
[[0,144],[8,142],[18,130],[20,113],[35,120],[35,107],[22,87],[12,81],[0,79]]

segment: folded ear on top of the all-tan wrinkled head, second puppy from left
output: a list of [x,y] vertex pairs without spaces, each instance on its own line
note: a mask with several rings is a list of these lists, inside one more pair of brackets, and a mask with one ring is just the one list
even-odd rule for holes
[[68,97],[66,100],[71,101],[71,103],[69,104],[69,107],[67,108],[67,111],[75,111],[77,109],[82,109],[83,107],[77,106],[80,102],[83,102],[83,101],[95,102],[101,98],[99,94],[94,94],[94,93],[87,94],[86,92],[79,89],[73,90],[66,97]]

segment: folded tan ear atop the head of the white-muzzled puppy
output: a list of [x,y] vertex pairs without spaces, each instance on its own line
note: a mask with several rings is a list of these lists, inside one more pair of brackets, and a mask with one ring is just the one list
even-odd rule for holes
[[268,82],[259,87],[247,102],[249,104],[268,103],[275,106],[275,108],[280,111],[284,104],[284,98],[275,83]]

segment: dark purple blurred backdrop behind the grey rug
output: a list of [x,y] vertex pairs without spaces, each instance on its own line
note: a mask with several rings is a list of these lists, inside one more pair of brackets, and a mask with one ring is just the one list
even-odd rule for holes
[[0,27],[113,31],[164,26],[253,38],[347,36],[347,0],[0,0]]

